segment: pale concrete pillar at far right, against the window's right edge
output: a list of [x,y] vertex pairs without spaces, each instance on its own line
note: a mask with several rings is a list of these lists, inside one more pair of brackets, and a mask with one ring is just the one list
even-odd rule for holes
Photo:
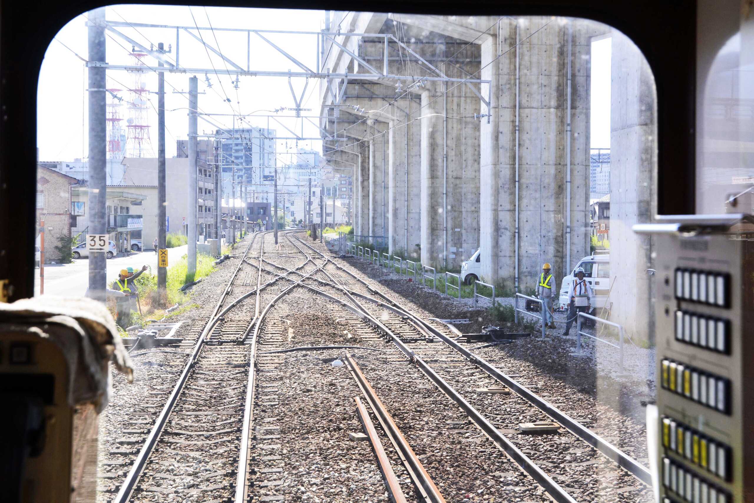
[[657,126],[654,78],[636,45],[612,34],[610,109],[610,266],[612,321],[646,339],[651,308],[651,238],[635,223],[651,222],[657,210]]

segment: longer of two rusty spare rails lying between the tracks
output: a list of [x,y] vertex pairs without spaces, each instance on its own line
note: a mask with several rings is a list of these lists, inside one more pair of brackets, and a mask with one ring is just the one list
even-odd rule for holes
[[[425,498],[433,503],[445,503],[445,498],[440,494],[440,489],[437,489],[437,486],[434,485],[432,477],[429,476],[424,465],[422,465],[421,461],[416,457],[414,449],[409,445],[409,441],[406,440],[406,437],[400,432],[400,429],[393,421],[390,413],[388,413],[388,410],[385,409],[385,406],[382,404],[382,400],[379,399],[374,388],[372,388],[372,385],[369,384],[369,381],[367,381],[366,377],[361,373],[359,366],[348,351],[345,353],[345,360],[346,363],[348,363],[348,368],[351,369],[351,373],[353,374],[354,379],[356,379],[361,392],[364,394],[364,397],[366,397],[366,401],[369,402],[369,406],[372,407],[372,411],[374,411],[380,425],[382,425],[382,429],[385,430],[385,433],[388,434],[391,442],[396,446],[397,451],[400,452],[401,459],[412,474],[412,479],[418,481],[418,483],[421,484],[421,489],[424,489],[423,495],[425,495]],[[358,400],[358,397],[356,397],[356,399]],[[364,411],[364,415],[369,417],[366,415],[366,410]]]

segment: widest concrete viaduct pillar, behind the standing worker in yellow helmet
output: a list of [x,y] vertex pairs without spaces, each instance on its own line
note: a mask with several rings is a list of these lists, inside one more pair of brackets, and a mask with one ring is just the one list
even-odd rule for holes
[[[589,251],[589,109],[591,23],[572,22],[571,115],[567,117],[568,24],[529,18],[519,26],[519,275],[520,290],[535,286],[542,262],[562,278]],[[492,118],[482,121],[480,241],[482,275],[516,284],[516,22],[501,23],[500,50],[482,44],[483,78],[492,79]],[[583,57],[586,56],[586,57]],[[495,60],[495,58],[498,58]],[[566,127],[571,132],[571,250],[566,264],[569,198]],[[489,180],[489,183],[486,181]]]

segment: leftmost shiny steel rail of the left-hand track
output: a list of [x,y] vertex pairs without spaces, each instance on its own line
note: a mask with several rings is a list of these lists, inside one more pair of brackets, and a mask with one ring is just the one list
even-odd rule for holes
[[142,449],[139,451],[139,454],[136,455],[136,459],[133,461],[133,465],[131,466],[130,471],[126,475],[126,478],[124,479],[123,483],[121,484],[121,489],[118,489],[118,494],[115,495],[115,499],[113,500],[113,503],[126,503],[126,501],[130,499],[131,493],[133,492],[133,488],[134,486],[136,486],[136,481],[139,480],[139,477],[141,477],[142,471],[144,469],[144,465],[146,465],[146,460],[149,458],[149,455],[152,453],[152,449],[155,448],[155,444],[157,443],[157,440],[162,433],[165,423],[167,422],[167,417],[170,416],[170,413],[173,411],[173,406],[178,400],[178,395],[181,393],[181,391],[183,390],[183,386],[185,385],[186,381],[189,379],[189,373],[191,373],[191,371],[193,370],[196,364],[196,360],[199,357],[201,348],[204,346],[204,342],[207,339],[207,335],[210,333],[210,331],[214,327],[214,324],[216,323],[216,319],[218,318],[217,314],[220,310],[220,306],[222,305],[222,302],[225,301],[225,298],[228,296],[228,293],[230,293],[231,286],[233,282],[235,281],[236,277],[238,277],[238,272],[241,271],[241,265],[244,263],[244,257],[247,256],[247,253],[249,253],[249,250],[251,250],[251,245],[254,243],[254,241],[256,241],[257,236],[258,234],[253,235],[253,238],[249,242],[249,246],[246,248],[246,251],[244,251],[244,256],[241,257],[241,262],[238,263],[238,267],[236,267],[236,270],[231,276],[230,281],[228,281],[228,286],[225,287],[225,290],[222,292],[222,295],[220,296],[220,299],[214,308],[214,311],[213,311],[212,316],[210,317],[210,320],[207,321],[207,324],[204,326],[204,330],[201,331],[201,335],[199,336],[196,344],[194,345],[194,351],[192,351],[192,354],[189,357],[189,361],[186,362],[186,365],[183,368],[183,372],[181,373],[178,379],[178,382],[176,382],[176,385],[173,387],[173,391],[170,393],[170,397],[168,397],[167,402],[165,403],[165,405],[163,406],[160,412],[160,415],[155,421],[155,425],[152,427],[152,431],[149,432],[149,436],[146,438],[146,442],[142,446]]

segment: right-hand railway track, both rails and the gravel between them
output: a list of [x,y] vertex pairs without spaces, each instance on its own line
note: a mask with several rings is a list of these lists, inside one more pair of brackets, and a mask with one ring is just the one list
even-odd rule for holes
[[[326,259],[314,247],[296,237],[294,239]],[[302,253],[305,252],[302,250]],[[380,331],[390,336],[406,357],[467,410],[477,426],[544,486],[556,501],[593,501],[595,495],[610,488],[618,491],[615,497],[619,499],[651,499],[651,491],[645,484],[648,471],[642,465],[461,345],[453,344],[449,334],[443,334],[439,327],[413,317],[342,266],[328,259],[324,267],[304,283],[342,300],[344,305],[353,305],[372,317],[373,321],[379,320]],[[367,294],[382,299],[374,299]],[[440,340],[445,344],[432,342]],[[441,370],[434,372],[432,367]],[[482,391],[500,382],[504,382],[518,396]],[[558,419],[569,429],[526,437],[516,431],[516,426],[521,422],[550,419],[544,413]],[[516,445],[501,432],[515,435]],[[603,455],[598,453],[598,449]]]

